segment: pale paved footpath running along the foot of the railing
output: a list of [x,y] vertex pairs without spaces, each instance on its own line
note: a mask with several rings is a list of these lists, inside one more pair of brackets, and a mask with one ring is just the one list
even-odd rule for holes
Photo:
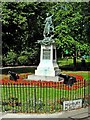
[[[22,120],[26,120],[27,118],[60,118],[65,119],[68,118],[68,120],[76,120],[76,119],[83,119],[83,120],[88,120],[90,119],[89,117],[89,108],[81,108],[78,110],[72,110],[72,111],[63,111],[60,113],[53,113],[53,114],[16,114],[16,113],[2,113],[0,116],[0,119],[4,120],[16,120],[16,118],[22,118]],[[31,120],[30,119],[30,120]]]

